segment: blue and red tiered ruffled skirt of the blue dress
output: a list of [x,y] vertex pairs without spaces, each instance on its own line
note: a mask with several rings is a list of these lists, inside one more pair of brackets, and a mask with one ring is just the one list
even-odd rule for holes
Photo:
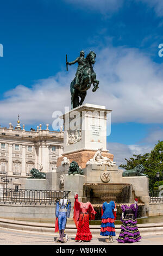
[[102,236],[115,236],[114,218],[102,218],[101,233]]

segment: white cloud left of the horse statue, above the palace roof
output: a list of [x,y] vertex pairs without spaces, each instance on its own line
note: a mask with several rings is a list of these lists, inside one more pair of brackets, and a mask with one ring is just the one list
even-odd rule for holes
[[5,93],[0,101],[1,124],[15,123],[17,114],[24,124],[52,124],[52,113],[62,111],[70,105],[70,86],[66,81],[72,80],[72,74],[60,73],[55,77],[37,81],[31,88],[19,85]]

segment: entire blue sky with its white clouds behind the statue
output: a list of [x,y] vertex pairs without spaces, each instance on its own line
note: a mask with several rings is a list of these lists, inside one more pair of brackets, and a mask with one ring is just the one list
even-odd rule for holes
[[[52,127],[70,106],[65,54],[96,52],[100,90],[85,102],[112,109],[108,149],[115,160],[146,153],[163,137],[163,2],[161,0],[1,1],[0,123]],[[123,151],[123,152],[122,152]]]

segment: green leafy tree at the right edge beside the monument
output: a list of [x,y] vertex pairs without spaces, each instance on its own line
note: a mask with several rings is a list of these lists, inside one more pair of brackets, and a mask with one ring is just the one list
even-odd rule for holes
[[129,160],[125,159],[127,163],[121,164],[120,167],[130,170],[138,164],[143,164],[143,167],[145,167],[144,173],[149,178],[149,190],[153,190],[157,172],[160,173],[160,180],[163,180],[163,141],[158,141],[151,153],[133,156]]

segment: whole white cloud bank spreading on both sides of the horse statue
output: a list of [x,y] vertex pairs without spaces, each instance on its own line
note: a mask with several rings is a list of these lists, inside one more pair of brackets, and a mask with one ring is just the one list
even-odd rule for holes
[[[96,56],[99,89],[87,91],[84,103],[112,109],[112,122],[162,123],[162,64],[134,48],[110,46],[96,49]],[[76,68],[37,81],[31,88],[19,85],[6,92],[0,101],[1,124],[16,120],[18,113],[25,124],[52,123],[53,111],[71,107],[70,83]]]

